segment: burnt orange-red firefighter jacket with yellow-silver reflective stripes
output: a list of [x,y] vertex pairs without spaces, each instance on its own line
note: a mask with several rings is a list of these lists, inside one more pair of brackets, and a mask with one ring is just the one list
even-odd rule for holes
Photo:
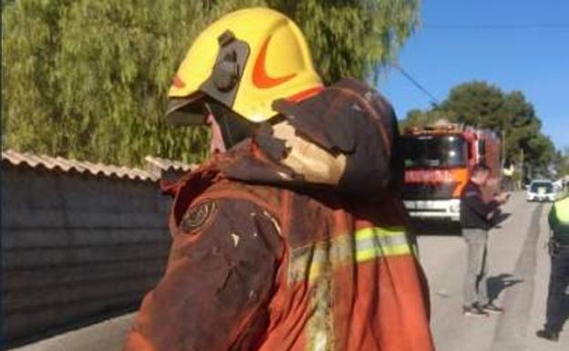
[[128,351],[431,351],[397,119],[343,80],[169,188],[173,243]]

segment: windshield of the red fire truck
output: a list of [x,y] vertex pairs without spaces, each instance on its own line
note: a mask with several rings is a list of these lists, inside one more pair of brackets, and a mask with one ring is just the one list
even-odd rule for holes
[[467,143],[456,135],[421,135],[404,138],[405,167],[444,168],[466,166]]

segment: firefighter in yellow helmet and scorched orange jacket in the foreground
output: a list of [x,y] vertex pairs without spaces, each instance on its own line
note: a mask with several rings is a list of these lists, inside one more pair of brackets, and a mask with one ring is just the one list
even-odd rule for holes
[[433,350],[384,98],[325,88],[265,8],[205,29],[169,97],[171,122],[210,125],[213,155],[165,189],[170,258],[126,350]]

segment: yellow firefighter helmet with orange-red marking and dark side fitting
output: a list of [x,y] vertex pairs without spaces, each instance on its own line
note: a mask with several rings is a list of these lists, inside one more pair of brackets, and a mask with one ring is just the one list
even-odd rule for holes
[[202,124],[203,98],[251,122],[271,119],[279,98],[322,87],[305,36],[274,10],[254,7],[224,15],[196,38],[168,93],[167,119]]

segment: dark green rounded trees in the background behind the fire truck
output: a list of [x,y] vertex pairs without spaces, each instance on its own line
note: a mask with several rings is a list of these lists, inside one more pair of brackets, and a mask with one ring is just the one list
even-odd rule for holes
[[439,106],[409,111],[402,124],[432,124],[440,118],[501,132],[508,165],[523,161],[546,173],[555,160],[553,142],[543,135],[542,122],[521,91],[505,93],[482,81],[460,84],[450,89],[449,97]]

